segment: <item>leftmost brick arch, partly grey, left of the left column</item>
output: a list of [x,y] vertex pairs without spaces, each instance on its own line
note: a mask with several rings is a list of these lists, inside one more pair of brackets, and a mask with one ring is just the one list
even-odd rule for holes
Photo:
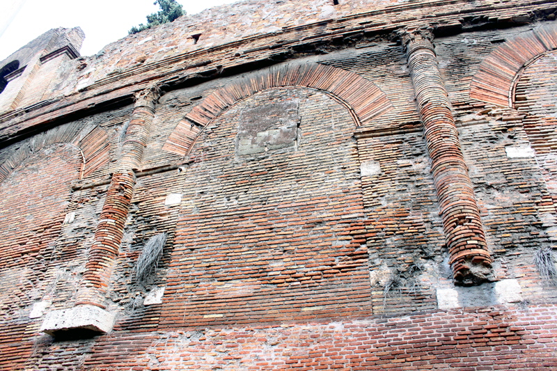
[[0,182],[5,180],[24,159],[54,143],[70,143],[79,148],[82,162],[79,179],[107,164],[110,148],[107,132],[98,126],[88,126],[79,130],[82,125],[79,122],[61,125],[33,136],[0,165]]

